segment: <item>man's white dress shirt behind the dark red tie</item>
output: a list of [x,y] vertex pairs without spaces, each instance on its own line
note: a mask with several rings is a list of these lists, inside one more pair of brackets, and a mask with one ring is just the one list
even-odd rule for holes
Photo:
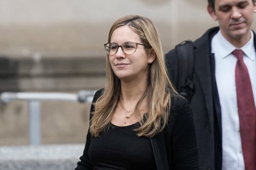
[[[222,36],[221,31],[218,31],[212,38],[211,47],[215,56],[215,79],[221,105],[222,170],[244,170],[236,99],[235,68],[237,58],[231,54],[238,48],[228,42]],[[256,104],[256,53],[252,31],[250,40],[240,49],[244,52],[243,59],[249,72]]]

